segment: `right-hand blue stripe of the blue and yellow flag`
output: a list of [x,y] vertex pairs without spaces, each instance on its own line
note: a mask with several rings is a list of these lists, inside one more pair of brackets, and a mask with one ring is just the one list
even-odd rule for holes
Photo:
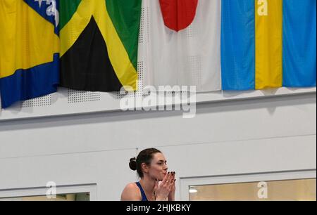
[[283,86],[316,86],[316,0],[284,1]]

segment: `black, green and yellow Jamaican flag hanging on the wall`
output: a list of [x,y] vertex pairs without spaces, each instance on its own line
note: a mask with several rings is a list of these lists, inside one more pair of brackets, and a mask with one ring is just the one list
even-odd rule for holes
[[141,0],[60,1],[61,86],[137,90]]

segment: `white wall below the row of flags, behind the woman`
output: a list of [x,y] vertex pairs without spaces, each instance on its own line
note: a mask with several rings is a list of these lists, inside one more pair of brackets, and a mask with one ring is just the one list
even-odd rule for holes
[[130,157],[148,147],[163,150],[180,180],[316,170],[316,93],[198,105],[194,119],[113,112],[0,122],[0,197],[55,181],[96,183],[98,200],[118,200],[137,180]]

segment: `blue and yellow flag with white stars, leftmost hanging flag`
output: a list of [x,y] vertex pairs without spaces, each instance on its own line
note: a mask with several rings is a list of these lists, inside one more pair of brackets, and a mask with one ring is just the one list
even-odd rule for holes
[[58,0],[0,1],[1,107],[56,92]]

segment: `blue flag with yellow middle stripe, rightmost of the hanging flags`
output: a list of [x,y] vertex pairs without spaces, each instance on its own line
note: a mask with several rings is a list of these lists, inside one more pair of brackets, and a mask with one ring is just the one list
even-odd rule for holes
[[316,86],[316,0],[222,1],[223,90]]

